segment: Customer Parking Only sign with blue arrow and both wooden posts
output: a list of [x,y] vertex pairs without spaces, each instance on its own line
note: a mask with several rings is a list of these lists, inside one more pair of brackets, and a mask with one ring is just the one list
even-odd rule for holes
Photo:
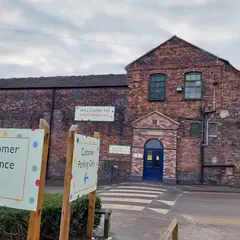
[[88,229],[92,228],[90,234],[93,232],[100,152],[99,133],[95,133],[95,138],[92,138],[77,134],[76,131],[77,126],[72,126],[68,135],[60,240],[69,239],[70,203],[89,193],[92,194],[89,196]]

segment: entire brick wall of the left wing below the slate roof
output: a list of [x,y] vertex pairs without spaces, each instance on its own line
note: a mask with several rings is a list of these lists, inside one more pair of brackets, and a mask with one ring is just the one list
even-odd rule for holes
[[[2,90],[0,94],[1,128],[37,128],[40,118],[50,122],[53,90]],[[50,179],[63,179],[66,160],[66,137],[71,124],[78,124],[81,132],[101,135],[100,178],[107,178],[109,164],[119,165],[121,178],[126,178],[131,169],[129,155],[109,154],[109,144],[131,145],[131,133],[125,123],[127,106],[126,88],[59,89],[55,91],[51,128],[51,147],[48,167]],[[114,122],[75,122],[75,106],[115,106]]]

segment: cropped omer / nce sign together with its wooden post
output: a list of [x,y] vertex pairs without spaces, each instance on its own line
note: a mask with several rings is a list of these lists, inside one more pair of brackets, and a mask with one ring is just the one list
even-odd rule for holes
[[0,206],[31,211],[28,240],[38,240],[49,142],[40,129],[0,129]]

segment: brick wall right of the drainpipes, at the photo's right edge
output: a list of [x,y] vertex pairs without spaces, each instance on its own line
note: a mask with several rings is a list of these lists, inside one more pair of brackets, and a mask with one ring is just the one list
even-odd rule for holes
[[[209,138],[209,146],[205,148],[205,162],[207,164],[234,164],[236,169],[206,169],[206,180],[212,183],[239,184],[240,88],[237,71],[223,67],[222,78],[219,79],[215,88],[218,91],[217,106],[211,122],[218,123],[218,136]],[[210,116],[211,114],[209,114]]]

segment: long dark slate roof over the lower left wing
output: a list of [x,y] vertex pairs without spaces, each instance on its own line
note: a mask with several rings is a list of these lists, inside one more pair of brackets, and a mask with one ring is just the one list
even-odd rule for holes
[[126,87],[125,74],[0,79],[0,89]]

